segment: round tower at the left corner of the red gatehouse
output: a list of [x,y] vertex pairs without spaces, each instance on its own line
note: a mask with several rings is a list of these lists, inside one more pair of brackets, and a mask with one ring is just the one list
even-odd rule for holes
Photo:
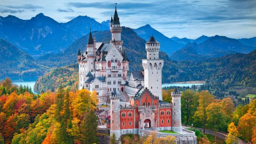
[[120,95],[113,91],[110,95],[110,136],[114,133],[117,139],[121,136],[120,131]]

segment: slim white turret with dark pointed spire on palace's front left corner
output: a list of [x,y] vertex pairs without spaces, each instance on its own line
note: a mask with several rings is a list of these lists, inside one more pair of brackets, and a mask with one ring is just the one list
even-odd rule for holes
[[87,50],[86,50],[86,59],[87,59],[87,71],[93,71],[94,70],[94,59],[96,56],[96,47],[94,44],[94,39],[92,38],[91,34],[91,28],[90,28],[90,34],[89,39],[87,43]]

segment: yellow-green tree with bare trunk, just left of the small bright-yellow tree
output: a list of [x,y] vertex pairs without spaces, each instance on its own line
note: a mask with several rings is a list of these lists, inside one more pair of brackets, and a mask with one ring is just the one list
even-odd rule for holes
[[226,123],[224,112],[222,111],[222,105],[219,103],[210,103],[206,107],[207,121],[210,125],[213,125],[213,130],[215,131],[215,142],[217,143],[216,131],[219,130],[219,127]]

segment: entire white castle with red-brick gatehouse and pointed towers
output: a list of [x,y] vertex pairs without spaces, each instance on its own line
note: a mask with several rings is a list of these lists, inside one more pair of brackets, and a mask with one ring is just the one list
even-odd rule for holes
[[[99,105],[110,99],[110,135],[147,133],[145,130],[173,130],[184,133],[181,126],[181,93],[171,92],[172,102],[162,101],[162,67],[160,43],[151,36],[146,42],[144,71],[129,71],[117,7],[111,17],[110,43],[96,42],[90,32],[87,49],[78,51],[79,89],[96,91]],[[191,132],[191,131],[190,131]],[[189,132],[186,132],[189,133]],[[182,135],[180,135],[182,137]],[[192,135],[192,143],[194,142]],[[186,137],[187,138],[187,137]],[[181,138],[180,138],[181,139]]]

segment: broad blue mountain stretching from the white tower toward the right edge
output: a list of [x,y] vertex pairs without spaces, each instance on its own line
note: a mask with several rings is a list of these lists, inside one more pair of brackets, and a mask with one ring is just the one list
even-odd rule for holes
[[[206,36],[202,36],[202,38]],[[234,53],[249,53],[254,50],[236,39],[224,36],[214,36],[203,43],[188,43],[183,48],[174,52],[170,59],[181,60],[199,60],[202,58],[222,57]]]

